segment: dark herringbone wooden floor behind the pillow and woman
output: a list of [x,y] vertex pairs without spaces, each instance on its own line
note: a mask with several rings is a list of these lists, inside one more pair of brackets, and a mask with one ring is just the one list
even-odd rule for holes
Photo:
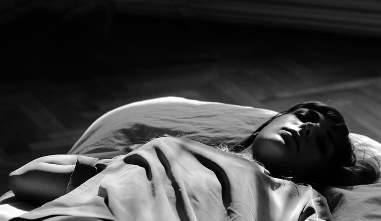
[[162,96],[271,110],[323,101],[381,141],[380,39],[132,16],[105,39],[99,14],[44,16],[0,27],[0,194],[11,170],[66,153],[108,110]]

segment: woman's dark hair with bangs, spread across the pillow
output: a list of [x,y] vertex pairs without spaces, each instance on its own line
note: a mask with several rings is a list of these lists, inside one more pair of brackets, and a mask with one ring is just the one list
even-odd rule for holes
[[[231,148],[230,151],[240,152],[243,149],[246,149],[254,142],[256,134],[258,134],[259,131],[271,123],[275,118],[301,108],[315,110],[329,119],[332,122],[331,127],[334,131],[336,141],[334,144],[335,148],[332,159],[324,168],[322,168],[321,172],[311,173],[308,177],[303,178],[294,177],[291,179],[292,181],[298,183],[307,182],[314,188],[319,189],[329,185],[352,186],[370,184],[379,179],[380,163],[378,159],[374,157],[376,162],[379,164],[378,166],[366,160],[357,160],[354,153],[355,147],[349,137],[349,129],[345,123],[343,115],[339,112],[339,110],[318,101],[299,103],[292,106],[288,110],[279,112],[259,126],[250,137]],[[279,176],[279,178],[284,177],[290,177],[290,174]]]

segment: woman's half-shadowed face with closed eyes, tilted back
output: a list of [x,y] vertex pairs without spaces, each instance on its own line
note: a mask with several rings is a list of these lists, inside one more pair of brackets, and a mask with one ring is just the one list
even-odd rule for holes
[[263,163],[270,173],[303,176],[321,169],[334,150],[334,134],[321,113],[298,109],[265,126],[245,152]]

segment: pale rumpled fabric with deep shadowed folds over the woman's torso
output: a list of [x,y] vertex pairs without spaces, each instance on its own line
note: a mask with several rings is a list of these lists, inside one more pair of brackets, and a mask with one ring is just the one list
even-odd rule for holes
[[325,198],[310,186],[270,177],[255,162],[172,137],[116,157],[78,188],[20,218],[54,215],[119,221],[332,221]]

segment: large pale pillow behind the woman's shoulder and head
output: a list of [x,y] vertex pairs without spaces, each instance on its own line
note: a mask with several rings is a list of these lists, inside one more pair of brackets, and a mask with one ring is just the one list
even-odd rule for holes
[[[208,145],[234,146],[277,112],[252,107],[164,97],[131,103],[99,117],[68,154],[125,154],[164,134],[184,136]],[[381,144],[351,133],[359,160],[377,163]],[[377,165],[377,164],[376,164]]]

